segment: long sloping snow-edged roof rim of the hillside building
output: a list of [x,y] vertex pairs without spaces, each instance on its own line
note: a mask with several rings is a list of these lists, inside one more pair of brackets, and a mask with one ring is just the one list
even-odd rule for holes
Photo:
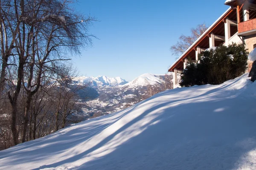
[[230,8],[228,8],[227,9],[227,11],[225,11],[224,12],[224,14],[222,14],[221,15],[221,17],[219,17],[218,18],[218,20],[216,20],[205,32],[204,32],[204,34],[202,34],[173,64],[172,64],[172,66],[169,68],[169,70],[177,63],[177,62],[179,62],[180,61],[180,59],[182,59],[184,56],[185,56],[185,54],[187,53],[187,52],[189,52],[193,47],[194,47],[194,45],[196,45],[200,40],[201,40],[201,38],[203,38],[220,20],[222,20],[222,18],[226,15],[226,14],[228,14],[230,11],[232,10],[232,8],[230,7]]

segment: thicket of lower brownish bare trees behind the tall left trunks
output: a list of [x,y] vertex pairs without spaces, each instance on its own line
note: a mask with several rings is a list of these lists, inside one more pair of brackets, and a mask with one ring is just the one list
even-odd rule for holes
[[[80,122],[79,114],[81,110],[79,102],[80,90],[84,91],[90,83],[79,83],[73,81],[73,77],[78,74],[71,65],[61,65],[56,68],[58,74],[44,77],[43,83],[37,93],[32,96],[29,108],[29,122],[26,129],[26,141],[46,136],[70,123]],[[77,80],[77,78],[76,78]],[[78,80],[79,81],[79,80]],[[23,130],[23,116],[26,107],[27,94],[24,88],[21,88],[17,99],[17,133]],[[12,131],[10,129],[10,113],[12,107],[8,99],[0,101],[0,150],[13,146]],[[56,117],[56,115],[58,115]]]

